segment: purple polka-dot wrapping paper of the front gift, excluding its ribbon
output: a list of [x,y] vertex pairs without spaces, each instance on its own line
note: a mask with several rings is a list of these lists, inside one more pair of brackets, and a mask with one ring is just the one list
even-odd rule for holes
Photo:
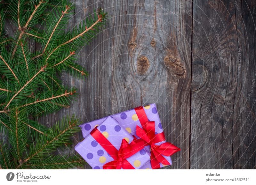
[[[92,130],[95,125],[90,127]],[[111,116],[105,118],[97,128],[117,150],[120,148],[122,139],[125,139],[129,144],[133,140],[132,135],[123,129]],[[88,125],[86,129],[89,129]],[[104,164],[114,160],[90,134],[75,146],[75,150],[92,166],[92,169],[103,169],[102,166]],[[135,169],[139,169],[150,160],[150,156],[142,149],[127,158],[127,160]]]

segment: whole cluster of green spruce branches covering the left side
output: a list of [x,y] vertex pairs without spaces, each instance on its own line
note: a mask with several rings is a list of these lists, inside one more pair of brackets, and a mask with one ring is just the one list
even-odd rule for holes
[[[63,72],[79,78],[88,74],[75,62],[76,50],[104,29],[106,13],[94,11],[66,33],[73,8],[67,0],[13,0],[0,5],[0,137],[8,138],[5,143],[0,139],[0,169],[60,169],[85,163],[78,156],[54,153],[68,147],[80,131],[74,117],[51,128],[37,121],[42,114],[70,107],[76,89],[67,88],[60,78]],[[14,39],[4,32],[5,17],[17,28]],[[34,52],[28,41],[36,41],[42,50]]]

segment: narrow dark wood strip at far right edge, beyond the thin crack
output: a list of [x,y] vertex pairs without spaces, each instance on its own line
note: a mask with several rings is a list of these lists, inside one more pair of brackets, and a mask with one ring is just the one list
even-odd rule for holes
[[[236,5],[238,56],[241,58],[235,93],[233,160],[235,169],[256,168],[256,2]],[[238,58],[239,59],[239,58]]]

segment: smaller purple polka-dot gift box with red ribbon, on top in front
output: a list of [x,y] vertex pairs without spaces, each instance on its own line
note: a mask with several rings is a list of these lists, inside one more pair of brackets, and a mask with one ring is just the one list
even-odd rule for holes
[[138,169],[150,160],[143,144],[135,142],[134,137],[111,116],[90,127],[91,132],[75,146],[75,150],[92,169]]

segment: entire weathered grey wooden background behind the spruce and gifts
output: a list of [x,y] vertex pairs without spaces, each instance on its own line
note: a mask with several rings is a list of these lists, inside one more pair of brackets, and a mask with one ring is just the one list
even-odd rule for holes
[[256,168],[254,0],[72,2],[70,27],[98,7],[108,25],[77,58],[89,78],[65,75],[77,101],[41,122],[156,103],[167,141],[181,148],[166,169]]

